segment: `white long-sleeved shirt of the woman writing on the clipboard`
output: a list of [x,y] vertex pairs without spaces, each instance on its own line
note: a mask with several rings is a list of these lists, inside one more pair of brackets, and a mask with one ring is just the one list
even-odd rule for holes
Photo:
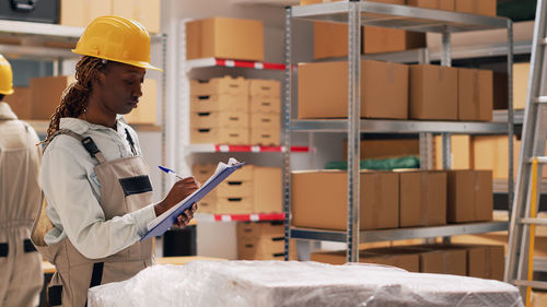
[[[131,156],[125,128],[117,131],[77,118],[61,118],[59,127],[91,137],[106,161]],[[133,140],[135,131],[128,128]],[[136,142],[138,154],[140,147]],[[53,245],[69,237],[86,258],[114,255],[139,240],[155,217],[153,204],[105,221],[100,205],[101,186],[93,168],[98,162],[72,137],[58,135],[49,144],[42,161],[42,184],[47,199],[46,213],[54,224],[44,239]]]

